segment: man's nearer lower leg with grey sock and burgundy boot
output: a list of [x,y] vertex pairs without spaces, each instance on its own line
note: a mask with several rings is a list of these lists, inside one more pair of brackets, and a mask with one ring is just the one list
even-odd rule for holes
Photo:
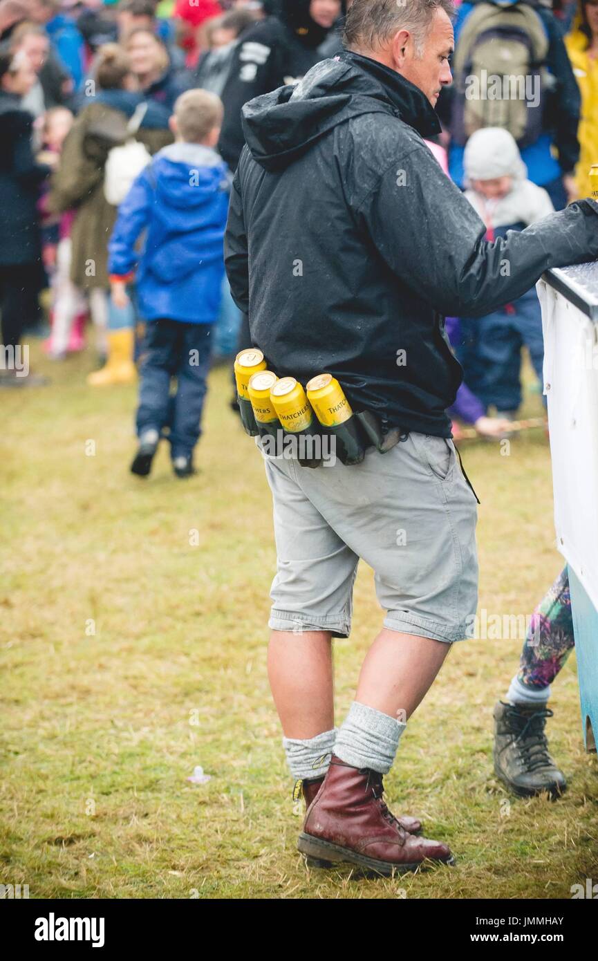
[[361,667],[356,700],[339,727],[328,773],[307,809],[298,849],[308,863],[349,861],[389,875],[427,859],[452,864],[447,845],[418,836],[417,818],[396,818],[383,798],[408,717],[423,700],[449,644],[383,629]]

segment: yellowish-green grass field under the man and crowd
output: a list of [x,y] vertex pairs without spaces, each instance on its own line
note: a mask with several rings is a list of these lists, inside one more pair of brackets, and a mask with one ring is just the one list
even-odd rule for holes
[[[144,482],[128,473],[135,389],[87,388],[90,354],[33,361],[52,384],[2,393],[0,883],[32,898],[552,899],[598,877],[574,656],[549,722],[566,795],[518,801],[492,774],[517,639],[456,646],[386,778],[392,808],[421,815],[458,866],[307,871],[265,670],[269,494],[227,372],[212,373],[198,476],[174,479],[164,450]],[[530,614],[561,569],[547,440],[461,452],[482,501],[480,606]],[[380,624],[362,566],[336,641],[339,720]],[[209,783],[187,781],[195,765]]]

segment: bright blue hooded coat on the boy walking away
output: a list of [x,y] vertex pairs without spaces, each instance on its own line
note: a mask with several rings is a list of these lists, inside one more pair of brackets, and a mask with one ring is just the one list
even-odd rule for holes
[[144,320],[216,320],[229,192],[228,167],[201,144],[164,147],[137,177],[118,209],[108,248],[109,273],[125,279],[138,264],[137,298]]

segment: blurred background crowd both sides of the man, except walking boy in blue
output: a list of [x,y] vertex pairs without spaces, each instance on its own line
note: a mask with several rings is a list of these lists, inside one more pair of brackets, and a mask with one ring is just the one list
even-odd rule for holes
[[[105,180],[112,148],[135,136],[146,159],[162,151],[173,141],[177,98],[200,88],[222,100],[216,147],[234,173],[242,106],[334,57],[346,9],[344,0],[0,0],[4,347],[43,330],[39,295],[49,288],[49,356],[81,350],[90,318],[100,369],[88,382],[135,380],[138,333],[148,318],[133,277],[126,305],[110,294],[117,206]],[[497,69],[492,40],[513,10],[513,62],[537,81],[536,101],[472,98],[466,84],[481,68]],[[598,158],[598,4],[559,2],[551,10],[522,0],[506,10],[463,2],[455,37],[454,83],[436,108],[442,133],[429,145],[486,222],[487,237],[521,230],[586,196]],[[228,357],[249,345],[246,318],[223,272],[212,272],[212,283],[219,284],[219,306],[210,346],[212,355]],[[456,435],[464,423],[482,436],[506,436],[521,402],[522,346],[541,376],[535,291],[482,320],[447,318],[446,331],[465,372],[451,411]],[[12,367],[4,364],[3,385],[43,382],[32,373],[16,377]]]

